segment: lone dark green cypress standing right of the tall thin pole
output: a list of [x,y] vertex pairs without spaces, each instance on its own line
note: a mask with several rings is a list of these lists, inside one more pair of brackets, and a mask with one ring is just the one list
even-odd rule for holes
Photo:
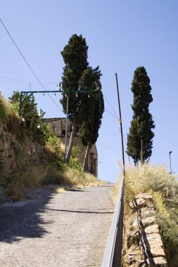
[[134,94],[132,105],[134,115],[129,128],[127,154],[137,164],[139,160],[143,163],[151,157],[154,136],[152,129],[155,128],[149,112],[149,104],[153,101],[150,79],[144,67],[137,67],[134,71],[131,90]]

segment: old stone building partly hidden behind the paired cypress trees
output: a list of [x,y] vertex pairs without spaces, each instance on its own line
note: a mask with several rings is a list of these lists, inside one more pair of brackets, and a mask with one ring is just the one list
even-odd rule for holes
[[[65,143],[66,119],[65,118],[51,118],[51,119],[44,119],[44,122],[51,124],[51,129],[53,130],[53,132],[56,134],[58,138],[61,138],[62,143]],[[68,142],[67,143],[69,143],[70,131],[71,131],[71,124],[70,124],[70,121],[68,120]],[[75,135],[74,145],[77,145],[80,148],[80,154],[78,156],[78,159],[80,163],[83,163],[86,147],[82,145],[82,142],[80,141],[80,136],[78,133],[76,133]],[[98,176],[98,153],[97,153],[96,145],[92,145],[89,151],[87,170],[91,174]]]

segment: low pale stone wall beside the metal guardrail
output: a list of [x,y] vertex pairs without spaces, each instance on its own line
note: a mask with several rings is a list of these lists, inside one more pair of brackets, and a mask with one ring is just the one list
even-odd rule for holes
[[129,222],[123,257],[127,266],[167,267],[165,250],[158,224],[155,222],[153,197],[149,193],[136,195],[129,204],[132,219]]

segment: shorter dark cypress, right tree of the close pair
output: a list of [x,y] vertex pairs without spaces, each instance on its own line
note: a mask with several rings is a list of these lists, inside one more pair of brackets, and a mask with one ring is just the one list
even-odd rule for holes
[[[98,130],[101,126],[101,119],[104,111],[104,101],[103,101],[103,93],[101,92],[101,71],[99,67],[92,69],[92,67],[88,67],[87,70],[84,70],[82,73],[82,77],[80,78],[80,88],[81,89],[96,89],[96,84],[98,90],[96,92],[92,92],[91,94],[85,94],[84,105],[82,105],[82,114],[84,114],[84,119],[82,125],[80,126],[80,138],[82,140],[82,144],[87,147],[83,169],[87,171],[87,159],[89,155],[89,149],[91,145],[96,143],[98,138]],[[96,82],[96,84],[94,84]],[[101,103],[99,103],[98,94],[100,94]],[[88,98],[89,96],[89,98]],[[101,105],[101,107],[100,107]]]

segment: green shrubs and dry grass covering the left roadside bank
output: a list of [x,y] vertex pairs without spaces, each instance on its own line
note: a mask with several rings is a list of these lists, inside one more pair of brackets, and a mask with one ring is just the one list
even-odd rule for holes
[[[0,150],[0,185],[6,188],[6,193],[13,200],[25,197],[25,190],[40,185],[56,185],[62,188],[78,188],[85,185],[98,185],[95,176],[82,171],[82,164],[77,160],[79,148],[72,148],[72,157],[68,164],[64,164],[64,148],[61,140],[55,136],[49,124],[42,120],[44,112],[37,112],[34,96],[27,98],[22,108],[22,117],[18,115],[20,93],[14,92],[8,103],[0,94],[0,125],[1,131],[11,133],[15,140],[11,140],[11,147],[16,159],[23,164],[23,168],[11,169],[8,176],[3,173],[3,150]],[[8,131],[8,132],[7,132]],[[5,132],[1,134],[3,136]],[[17,142],[17,143],[15,143]],[[42,165],[24,167],[27,160],[27,144],[37,142],[44,148]],[[58,190],[57,190],[58,191]]]

